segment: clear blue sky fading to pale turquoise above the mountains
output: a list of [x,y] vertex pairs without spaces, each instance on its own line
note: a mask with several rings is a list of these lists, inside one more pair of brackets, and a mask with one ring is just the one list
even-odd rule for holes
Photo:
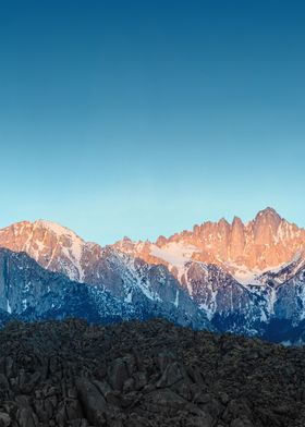
[[305,2],[0,0],[0,227],[305,227]]

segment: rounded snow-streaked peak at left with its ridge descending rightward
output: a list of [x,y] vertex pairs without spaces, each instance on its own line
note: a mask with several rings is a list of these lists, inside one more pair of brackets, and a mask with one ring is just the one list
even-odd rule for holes
[[146,313],[202,327],[208,321],[187,291],[162,266],[149,265],[115,247],[84,242],[52,222],[24,221],[0,231],[0,247],[25,252],[44,268],[107,290]]

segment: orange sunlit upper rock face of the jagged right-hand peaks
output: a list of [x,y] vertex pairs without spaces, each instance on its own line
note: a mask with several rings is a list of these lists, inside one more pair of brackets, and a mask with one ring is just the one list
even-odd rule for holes
[[281,218],[274,209],[267,208],[247,223],[237,217],[231,224],[224,219],[208,221],[195,225],[192,231],[183,231],[169,239],[162,236],[156,244],[139,242],[132,245],[130,242],[126,249],[121,241],[115,247],[170,268],[175,266],[174,258],[180,252],[185,255],[185,260],[216,264],[244,283],[253,276],[280,268],[296,256],[304,257],[305,230]]

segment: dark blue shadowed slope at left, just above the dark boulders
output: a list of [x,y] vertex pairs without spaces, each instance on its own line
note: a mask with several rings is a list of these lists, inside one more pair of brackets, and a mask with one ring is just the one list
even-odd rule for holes
[[[183,290],[169,283],[169,292],[184,297],[183,304],[151,301],[138,293],[137,301],[114,296],[107,286],[71,281],[49,271],[25,253],[0,249],[0,325],[10,317],[23,320],[82,317],[93,322],[164,317],[179,325],[209,328],[205,315]],[[163,284],[160,278],[159,285]],[[143,284],[145,288],[145,284]],[[5,314],[5,315],[4,315]]]

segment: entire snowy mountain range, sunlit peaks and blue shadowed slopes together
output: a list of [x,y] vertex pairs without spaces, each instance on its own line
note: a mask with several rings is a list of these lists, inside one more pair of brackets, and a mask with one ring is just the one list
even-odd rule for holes
[[305,340],[305,230],[272,208],[156,242],[85,242],[57,223],[0,230],[0,324],[164,317],[195,329]]

